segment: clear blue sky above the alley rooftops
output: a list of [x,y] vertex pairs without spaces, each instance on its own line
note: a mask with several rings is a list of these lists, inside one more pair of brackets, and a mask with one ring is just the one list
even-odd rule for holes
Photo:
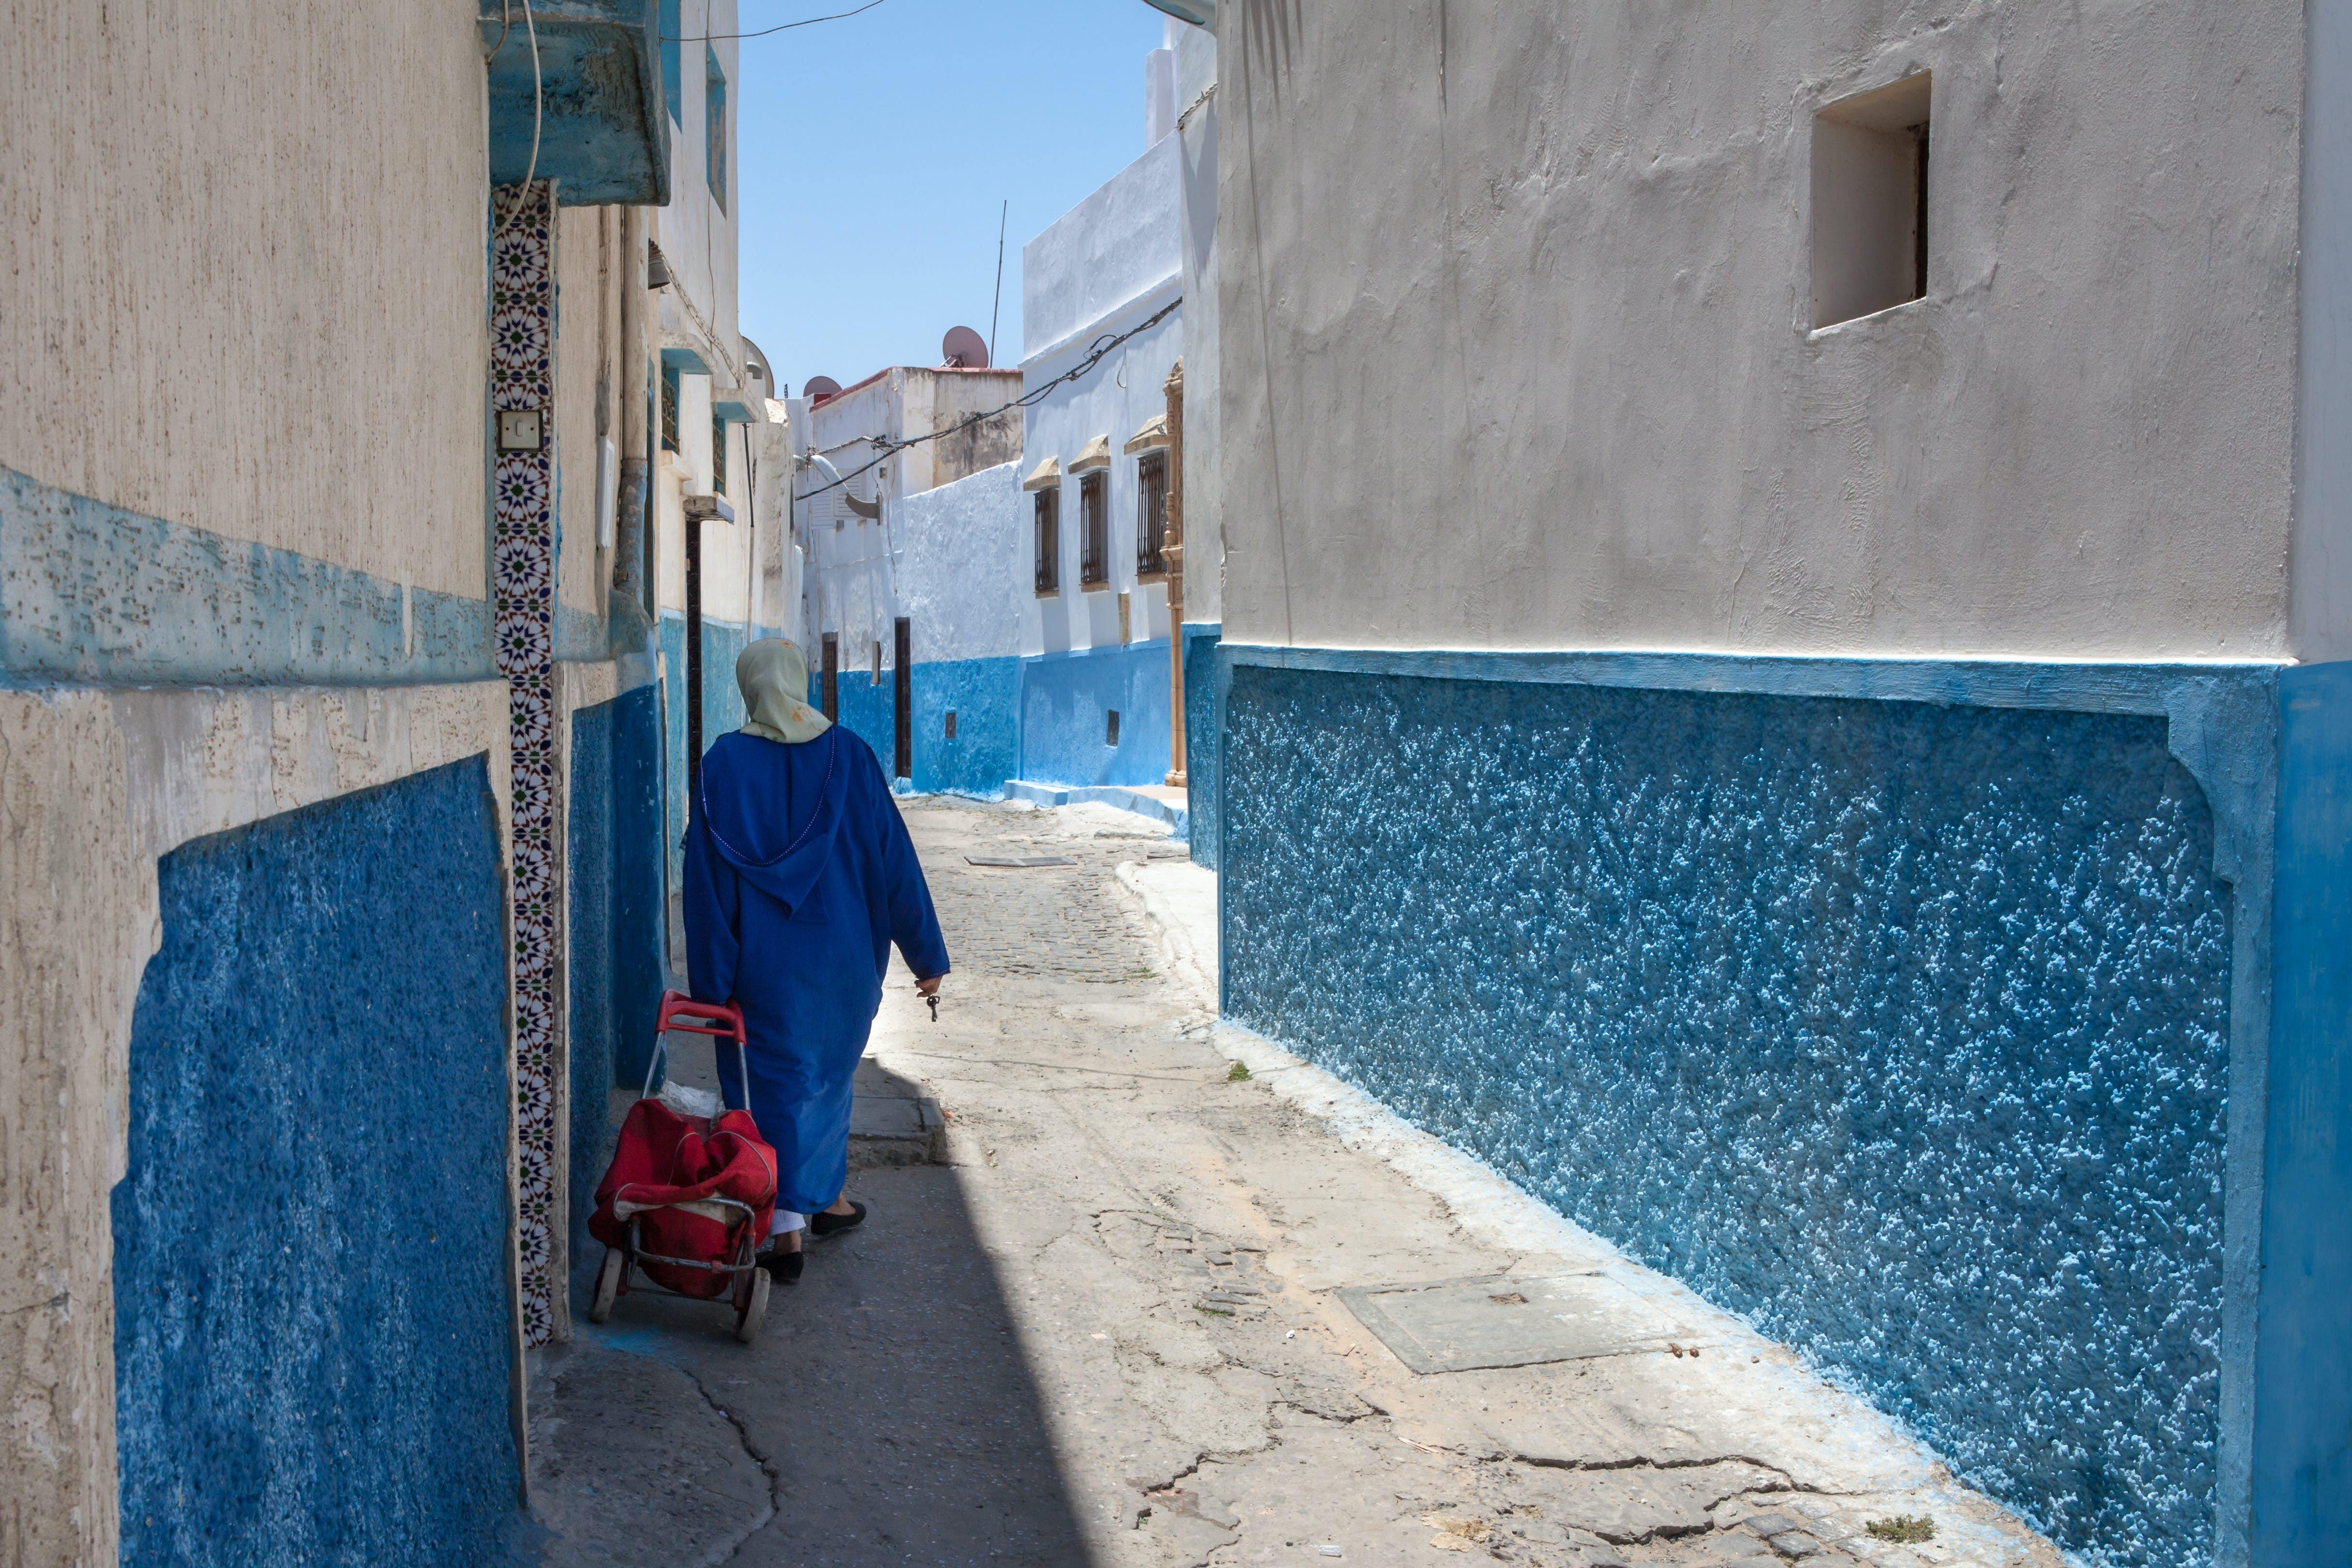
[[[741,0],[750,33],[856,0]],[[1021,360],[1021,242],[1143,153],[1143,0],[884,0],[746,38],[741,327],[797,393],[938,364],[948,327]]]

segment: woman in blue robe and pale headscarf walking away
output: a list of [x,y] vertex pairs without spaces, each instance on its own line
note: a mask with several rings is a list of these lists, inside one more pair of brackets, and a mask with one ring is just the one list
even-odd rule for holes
[[[776,1147],[769,1274],[800,1279],[802,1227],[866,1218],[849,1180],[849,1081],[889,945],[915,990],[938,990],[948,945],[915,844],[873,750],[809,708],[809,668],[783,639],[736,658],[750,719],[703,755],[687,820],[687,978],[696,1001],[734,1001],[750,1041],[750,1114]],[[720,1051],[727,1105],[743,1105]]]

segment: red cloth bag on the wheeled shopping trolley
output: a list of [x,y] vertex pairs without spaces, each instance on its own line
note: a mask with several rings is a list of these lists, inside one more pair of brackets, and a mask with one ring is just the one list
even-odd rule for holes
[[[710,1199],[748,1204],[753,1215],[720,1208]],[[637,1267],[666,1291],[717,1298],[736,1274],[682,1269],[652,1262],[644,1253],[731,1265],[753,1227],[753,1246],[767,1239],[776,1213],[776,1150],[760,1138],[750,1112],[680,1117],[661,1100],[637,1100],[621,1124],[621,1143],[595,1190],[588,1234],[604,1246],[628,1239],[637,1215]]]

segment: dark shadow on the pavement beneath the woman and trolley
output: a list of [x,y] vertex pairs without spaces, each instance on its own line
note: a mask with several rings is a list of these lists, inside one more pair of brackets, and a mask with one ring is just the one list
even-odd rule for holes
[[[708,1060],[677,1077],[715,1081]],[[957,1171],[908,1164],[908,1138],[938,1150],[920,1095],[861,1067],[849,1194],[870,1218],[811,1246],[753,1345],[717,1302],[642,1291],[588,1324],[583,1248],[579,1338],[532,1380],[548,1563],[1091,1561]]]

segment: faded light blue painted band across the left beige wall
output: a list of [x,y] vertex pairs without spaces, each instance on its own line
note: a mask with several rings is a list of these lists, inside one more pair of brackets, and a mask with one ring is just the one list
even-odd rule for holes
[[402,590],[0,468],[0,684],[473,679],[496,679],[482,599]]

